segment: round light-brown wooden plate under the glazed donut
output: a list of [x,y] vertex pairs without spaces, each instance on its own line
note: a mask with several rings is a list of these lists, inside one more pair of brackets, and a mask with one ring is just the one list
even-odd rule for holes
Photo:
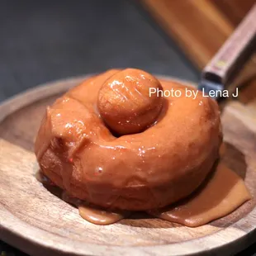
[[[114,225],[93,225],[35,178],[33,142],[45,107],[80,83],[71,78],[34,88],[0,106],[0,239],[33,255],[233,254],[251,244],[255,199],[229,216],[188,228],[136,213]],[[256,198],[256,124],[231,102],[222,113],[225,164]]]

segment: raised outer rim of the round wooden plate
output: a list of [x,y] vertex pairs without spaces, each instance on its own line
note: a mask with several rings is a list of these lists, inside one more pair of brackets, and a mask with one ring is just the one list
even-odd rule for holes
[[[27,105],[30,105],[33,102],[37,102],[45,97],[50,97],[54,96],[55,94],[65,92],[69,88],[72,88],[78,83],[81,83],[84,79],[89,78],[92,75],[95,75],[95,73],[90,73],[79,77],[59,79],[50,83],[43,83],[39,86],[28,89],[25,92],[21,92],[11,98],[8,98],[7,100],[0,103],[0,122],[2,122],[7,116],[11,115],[14,111],[17,111],[21,107],[26,107]],[[195,86],[195,83],[190,83],[183,79],[164,75],[156,76],[158,78],[172,79],[177,82]],[[46,251],[50,250],[51,253],[58,252],[61,254],[69,255],[104,255],[106,252],[111,253],[111,255],[193,255],[209,252],[211,253],[215,249],[218,249],[218,254],[221,254],[221,251],[224,252],[227,247],[229,247],[229,253],[231,254],[232,252],[237,252],[237,249],[239,248],[238,244],[244,243],[245,247],[255,242],[252,234],[255,232],[255,229],[253,228],[253,225],[244,225],[244,218],[238,220],[223,230],[216,231],[213,234],[202,236],[201,238],[197,239],[189,239],[173,244],[159,244],[150,246],[118,246],[84,244],[78,240],[71,241],[67,237],[60,237],[57,234],[49,233],[45,230],[40,230],[40,228],[34,225],[30,225],[24,220],[17,218],[17,216],[14,216],[4,207],[4,205],[2,205],[1,201],[0,212],[3,216],[6,217],[5,221],[0,221],[0,239],[25,252],[28,252],[29,249],[28,246],[26,247],[24,244],[29,243],[30,245],[33,245],[31,249],[38,249],[38,246],[40,246]],[[250,211],[246,216],[246,221],[249,222],[251,219],[254,220],[255,217],[256,207],[254,207],[254,209]],[[21,222],[23,223],[23,226],[17,230],[16,227],[20,226]],[[251,221],[251,223],[254,222]],[[239,225],[243,226],[243,230],[238,229]],[[236,232],[234,232],[234,229]],[[36,230],[37,237],[28,236],[30,234],[30,230]],[[50,243],[50,239],[39,239],[39,234],[42,237],[45,235],[47,235],[48,238],[51,237],[52,241],[58,240],[59,244],[61,244],[61,247],[58,246],[58,243]],[[22,239],[23,243],[14,243],[13,241],[17,238]],[[211,247],[211,244],[214,244],[214,247]],[[38,254],[43,255],[40,254],[40,252],[38,252]]]

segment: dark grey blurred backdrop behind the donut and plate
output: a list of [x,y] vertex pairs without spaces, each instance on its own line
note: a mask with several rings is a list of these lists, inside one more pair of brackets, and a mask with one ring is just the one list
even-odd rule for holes
[[[40,83],[126,67],[200,77],[138,1],[0,1],[0,102]],[[0,241],[0,255],[25,254]]]

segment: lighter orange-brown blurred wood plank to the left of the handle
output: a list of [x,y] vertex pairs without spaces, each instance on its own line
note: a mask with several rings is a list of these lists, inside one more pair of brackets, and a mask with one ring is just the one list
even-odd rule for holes
[[234,30],[230,21],[210,1],[142,2],[200,69]]

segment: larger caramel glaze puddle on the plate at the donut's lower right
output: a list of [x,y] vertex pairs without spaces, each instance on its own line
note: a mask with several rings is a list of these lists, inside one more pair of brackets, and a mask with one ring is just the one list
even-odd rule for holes
[[228,215],[251,199],[244,181],[224,164],[218,164],[206,182],[191,197],[150,215],[163,220],[197,227]]

